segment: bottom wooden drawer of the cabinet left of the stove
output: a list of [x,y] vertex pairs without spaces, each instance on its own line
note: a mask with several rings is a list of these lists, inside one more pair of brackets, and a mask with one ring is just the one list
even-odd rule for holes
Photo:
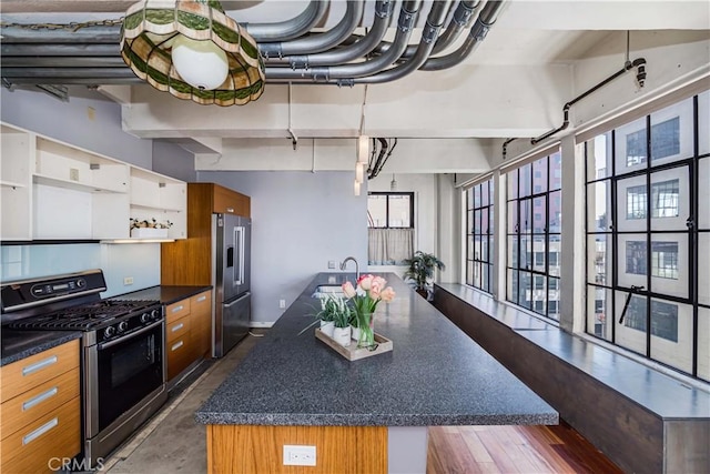
[[[80,397],[41,416],[2,440],[3,473],[49,473],[61,464],[57,457],[73,457],[81,451]],[[51,464],[52,463],[55,464]]]

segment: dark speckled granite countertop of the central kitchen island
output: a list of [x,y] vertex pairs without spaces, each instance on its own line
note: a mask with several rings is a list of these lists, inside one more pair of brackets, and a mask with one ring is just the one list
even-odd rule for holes
[[[203,424],[432,426],[556,424],[558,414],[398,276],[375,332],[394,350],[348,362],[318,341],[320,273],[197,410]],[[345,276],[336,275],[337,283]]]

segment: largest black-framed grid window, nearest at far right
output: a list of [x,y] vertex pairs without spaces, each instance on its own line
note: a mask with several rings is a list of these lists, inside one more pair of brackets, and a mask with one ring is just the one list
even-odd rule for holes
[[708,103],[703,92],[585,142],[586,332],[706,381]]

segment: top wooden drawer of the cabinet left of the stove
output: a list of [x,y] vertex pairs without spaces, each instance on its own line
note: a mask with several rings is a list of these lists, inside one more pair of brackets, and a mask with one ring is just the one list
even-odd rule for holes
[[79,366],[79,340],[68,342],[2,367],[0,402]]

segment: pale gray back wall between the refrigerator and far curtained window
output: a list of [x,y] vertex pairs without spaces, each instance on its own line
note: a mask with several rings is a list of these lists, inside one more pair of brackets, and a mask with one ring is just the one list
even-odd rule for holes
[[[353,172],[201,171],[199,181],[252,199],[252,323],[276,321],[328,261],[353,255],[367,268],[367,190],[353,194]],[[349,272],[354,271],[348,263]],[[335,270],[339,271],[339,270]],[[310,321],[304,321],[307,324]],[[304,326],[306,325],[304,324]]]

